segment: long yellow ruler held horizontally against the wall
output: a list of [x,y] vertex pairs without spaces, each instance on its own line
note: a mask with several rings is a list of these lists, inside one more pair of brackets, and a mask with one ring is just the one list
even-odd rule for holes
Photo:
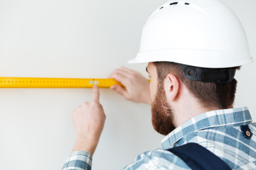
[[100,88],[122,85],[114,79],[0,77],[0,88],[91,88],[95,84]]

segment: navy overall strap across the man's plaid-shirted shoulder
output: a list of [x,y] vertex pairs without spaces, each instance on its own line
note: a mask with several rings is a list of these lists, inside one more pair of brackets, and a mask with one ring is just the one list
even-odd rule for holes
[[[180,147],[167,149],[193,170],[228,170],[230,167],[222,159],[210,152],[205,147],[196,143],[188,143]],[[230,169],[231,170],[231,169]]]

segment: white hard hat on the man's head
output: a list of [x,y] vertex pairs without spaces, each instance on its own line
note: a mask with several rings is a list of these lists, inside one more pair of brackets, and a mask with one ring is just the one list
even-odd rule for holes
[[137,57],[129,63],[176,62],[205,68],[252,62],[245,30],[219,0],[171,0],[146,21]]

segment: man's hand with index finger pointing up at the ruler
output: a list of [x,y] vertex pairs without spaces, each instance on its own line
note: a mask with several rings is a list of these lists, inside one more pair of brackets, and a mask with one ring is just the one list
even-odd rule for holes
[[100,91],[97,86],[93,86],[92,101],[83,103],[72,113],[77,132],[73,152],[87,151],[90,154],[95,152],[106,119],[99,99]]

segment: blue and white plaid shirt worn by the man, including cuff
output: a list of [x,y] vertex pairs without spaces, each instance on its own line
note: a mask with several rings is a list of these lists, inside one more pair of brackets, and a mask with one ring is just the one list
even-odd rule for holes
[[[252,138],[240,130],[249,125]],[[179,157],[166,149],[195,142],[223,159],[231,169],[256,169],[256,124],[247,108],[210,111],[186,121],[162,140],[163,149],[140,154],[124,169],[190,169]],[[65,162],[65,169],[91,169],[88,152],[73,152]]]

